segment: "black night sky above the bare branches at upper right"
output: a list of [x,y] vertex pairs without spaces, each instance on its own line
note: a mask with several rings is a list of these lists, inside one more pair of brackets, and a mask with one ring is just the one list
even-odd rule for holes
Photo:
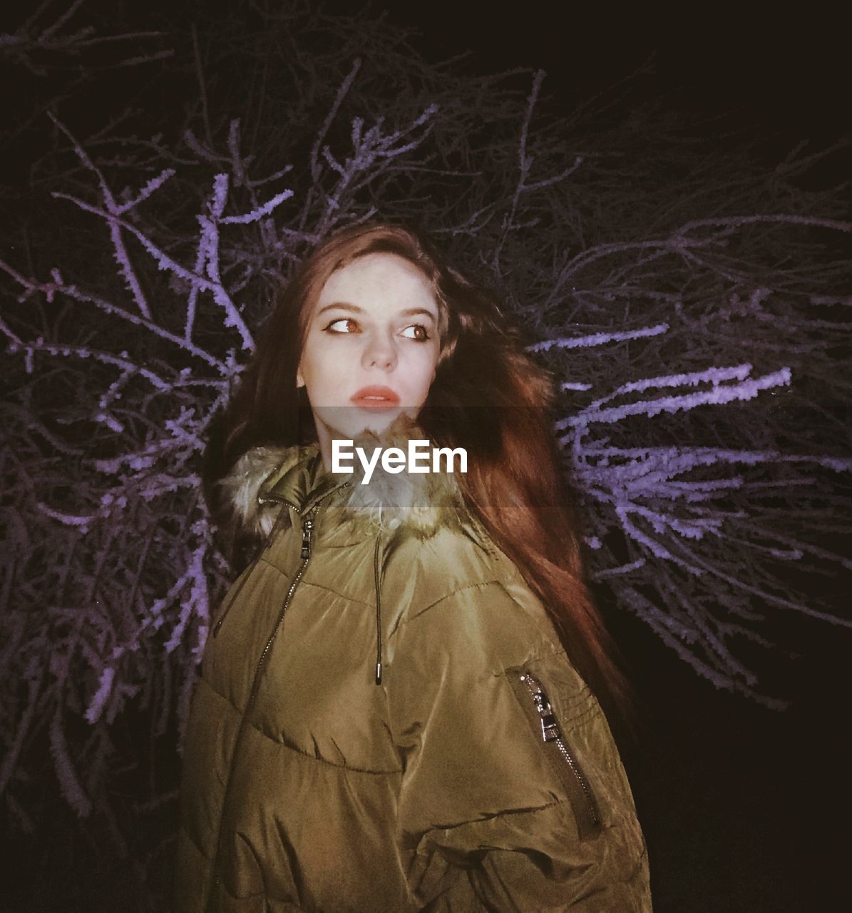
[[631,12],[603,4],[500,7],[446,0],[376,5],[383,6],[392,20],[421,29],[429,56],[470,50],[472,67],[483,71],[544,68],[545,87],[568,104],[652,60],[655,72],[643,91],[675,93],[671,103],[693,113],[727,113],[731,126],[758,139],[777,136],[779,149],[850,129],[847,30],[839,13],[826,15],[814,5],[806,13],[790,7],[795,16],[781,6],[761,16],[743,5],[730,14],[718,5],[686,4],[677,11],[639,5]]

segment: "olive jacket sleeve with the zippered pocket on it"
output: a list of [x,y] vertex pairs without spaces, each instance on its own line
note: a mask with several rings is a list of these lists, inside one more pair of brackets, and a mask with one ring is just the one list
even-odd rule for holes
[[[394,635],[400,863],[422,908],[651,908],[618,750],[554,640],[499,582],[408,614]],[[529,674],[565,752],[544,739]]]

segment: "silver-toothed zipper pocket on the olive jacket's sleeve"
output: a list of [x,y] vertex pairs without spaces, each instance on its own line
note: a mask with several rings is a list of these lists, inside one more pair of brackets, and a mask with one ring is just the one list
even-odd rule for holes
[[596,834],[603,825],[595,795],[577,758],[566,745],[545,689],[528,669],[516,669],[514,672],[514,681],[520,686],[516,689],[519,696],[524,698],[527,705],[531,703],[535,708],[538,723],[537,726],[534,723],[535,732],[547,746],[546,753],[554,762],[559,779],[566,786],[577,817],[580,837]]

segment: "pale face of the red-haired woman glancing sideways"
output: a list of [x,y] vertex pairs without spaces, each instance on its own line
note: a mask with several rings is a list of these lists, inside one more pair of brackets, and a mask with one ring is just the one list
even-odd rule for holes
[[421,270],[396,254],[367,254],[328,277],[308,315],[296,373],[317,422],[349,438],[416,418],[438,363],[438,303]]

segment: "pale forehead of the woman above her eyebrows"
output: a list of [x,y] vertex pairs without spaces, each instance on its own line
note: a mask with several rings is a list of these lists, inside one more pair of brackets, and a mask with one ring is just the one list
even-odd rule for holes
[[438,313],[429,279],[396,254],[366,254],[336,269],[322,287],[316,307],[335,303],[382,310],[416,307]]

